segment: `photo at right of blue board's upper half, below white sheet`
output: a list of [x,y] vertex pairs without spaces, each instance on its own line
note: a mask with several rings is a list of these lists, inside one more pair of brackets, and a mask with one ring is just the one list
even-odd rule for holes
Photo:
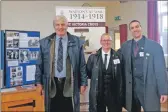
[[39,37],[29,37],[28,47],[29,48],[39,48]]

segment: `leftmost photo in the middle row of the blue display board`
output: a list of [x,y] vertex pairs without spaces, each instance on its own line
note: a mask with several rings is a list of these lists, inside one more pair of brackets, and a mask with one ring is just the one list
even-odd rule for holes
[[19,59],[19,50],[17,50],[17,49],[7,49],[6,59],[7,60],[18,60]]

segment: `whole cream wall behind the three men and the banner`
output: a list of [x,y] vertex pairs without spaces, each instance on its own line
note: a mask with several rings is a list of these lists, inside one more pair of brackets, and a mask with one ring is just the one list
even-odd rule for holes
[[[43,38],[54,31],[52,20],[55,16],[55,6],[82,6],[84,3],[92,7],[106,7],[106,25],[109,28],[138,19],[146,32],[145,1],[124,4],[118,1],[2,1],[1,28],[40,31]],[[115,16],[121,16],[123,20],[114,21]]]

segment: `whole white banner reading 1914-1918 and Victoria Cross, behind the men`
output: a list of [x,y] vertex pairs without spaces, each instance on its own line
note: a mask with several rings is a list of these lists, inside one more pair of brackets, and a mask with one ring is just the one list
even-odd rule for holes
[[[56,6],[56,15],[64,15],[68,19],[68,32],[85,41],[85,52],[101,47],[100,38],[106,32],[104,7]],[[88,56],[85,54],[86,60]],[[90,80],[85,94],[80,96],[80,111],[88,111],[89,89]]]

